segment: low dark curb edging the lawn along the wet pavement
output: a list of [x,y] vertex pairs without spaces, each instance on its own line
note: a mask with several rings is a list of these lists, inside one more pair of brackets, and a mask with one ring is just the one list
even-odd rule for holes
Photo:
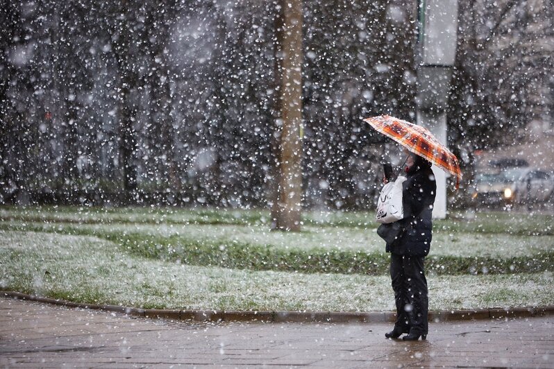
[[[12,291],[0,291],[0,297],[42,302],[69,308],[111,311],[143,318],[193,320],[196,322],[385,323],[394,322],[396,320],[396,313],[393,312],[140,309],[136,307],[121,307],[118,305],[83,304]],[[508,309],[429,311],[429,320],[435,322],[450,320],[491,320],[552,315],[554,315],[554,305],[546,307],[514,307]]]

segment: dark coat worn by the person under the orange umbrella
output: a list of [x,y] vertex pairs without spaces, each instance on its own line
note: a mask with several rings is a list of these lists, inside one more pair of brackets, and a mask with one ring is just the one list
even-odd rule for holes
[[417,257],[428,255],[433,230],[431,213],[436,193],[437,184],[430,163],[412,166],[402,185],[404,218],[398,222],[404,232],[392,243],[387,243],[387,252]]

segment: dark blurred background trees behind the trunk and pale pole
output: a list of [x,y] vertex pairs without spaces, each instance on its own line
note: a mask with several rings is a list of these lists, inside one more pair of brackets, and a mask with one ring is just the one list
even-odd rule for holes
[[[551,121],[554,7],[496,3],[460,2],[449,137],[468,168]],[[270,205],[276,5],[3,1],[0,203]],[[389,153],[361,119],[415,120],[416,7],[303,1],[306,206],[373,206]]]

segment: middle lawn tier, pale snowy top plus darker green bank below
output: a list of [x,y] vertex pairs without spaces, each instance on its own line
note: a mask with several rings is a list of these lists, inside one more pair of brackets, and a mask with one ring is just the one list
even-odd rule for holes
[[[271,232],[264,224],[0,222],[0,229],[81,234],[135,255],[196,266],[312,273],[387,273],[375,228],[305,225]],[[554,236],[454,232],[437,227],[428,269],[437,274],[551,271]]]

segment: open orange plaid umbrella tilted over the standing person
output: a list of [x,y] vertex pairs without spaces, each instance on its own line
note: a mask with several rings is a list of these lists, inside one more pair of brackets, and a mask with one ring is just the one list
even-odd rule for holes
[[366,118],[364,121],[367,121],[378,132],[394,139],[412,153],[455,175],[456,189],[458,189],[462,179],[458,158],[446,146],[441,144],[429,130],[390,115]]

